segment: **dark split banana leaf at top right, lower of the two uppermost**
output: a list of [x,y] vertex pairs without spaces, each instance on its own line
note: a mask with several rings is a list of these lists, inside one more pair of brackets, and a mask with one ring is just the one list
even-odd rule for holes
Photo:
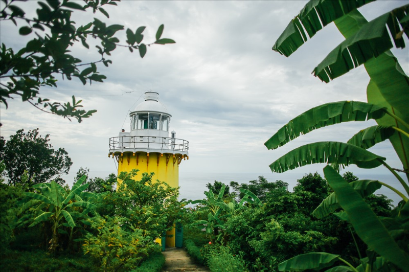
[[398,16],[405,12],[409,12],[409,5],[385,13],[362,25],[355,34],[340,43],[314,68],[314,76],[328,83],[330,79],[342,76],[368,60],[387,52],[393,47],[388,29],[392,33],[396,47],[404,48],[403,38],[397,39],[396,33],[400,31]]

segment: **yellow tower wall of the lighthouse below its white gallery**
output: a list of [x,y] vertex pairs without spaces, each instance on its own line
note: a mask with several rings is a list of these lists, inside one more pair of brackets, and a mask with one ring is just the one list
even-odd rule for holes
[[[139,154],[137,156],[137,154]],[[132,153],[124,153],[121,157],[119,155],[118,162],[118,174],[121,172],[129,172],[132,169],[139,169],[138,175],[134,177],[135,180],[140,180],[143,173],[155,173],[152,180],[159,179],[161,182],[166,182],[173,188],[179,187],[179,166],[177,164],[177,157],[169,155],[168,163],[166,163],[167,156],[161,153],[137,153],[133,156]],[[158,160],[159,158],[159,160]],[[175,161],[174,161],[175,159]],[[174,163],[173,163],[174,162]],[[166,246],[175,247],[175,229],[166,232],[167,235],[173,235],[172,237],[166,237]],[[162,244],[161,238],[155,240],[159,244]]]

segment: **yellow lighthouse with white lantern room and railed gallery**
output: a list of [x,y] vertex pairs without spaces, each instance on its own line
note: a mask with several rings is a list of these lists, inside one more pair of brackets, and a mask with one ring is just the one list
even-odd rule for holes
[[[129,114],[130,130],[109,139],[108,156],[117,160],[118,174],[139,169],[140,173],[153,172],[152,180],[179,187],[179,165],[189,160],[189,142],[177,139],[175,131],[169,137],[171,117],[158,93],[145,93],[145,101]],[[175,229],[167,235],[172,237],[166,237],[166,246],[179,245]]]

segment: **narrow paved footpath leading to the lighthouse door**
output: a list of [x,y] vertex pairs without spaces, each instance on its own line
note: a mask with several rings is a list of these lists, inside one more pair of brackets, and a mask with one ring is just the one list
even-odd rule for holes
[[193,262],[190,258],[189,254],[185,251],[184,248],[176,248],[170,247],[166,248],[164,252],[165,255],[165,267],[163,272],[171,272],[171,271],[207,271],[210,272],[204,266],[197,265]]

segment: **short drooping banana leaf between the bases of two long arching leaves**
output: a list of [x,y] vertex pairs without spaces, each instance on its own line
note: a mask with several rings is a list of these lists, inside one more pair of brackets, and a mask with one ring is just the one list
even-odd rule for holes
[[393,135],[395,130],[388,126],[371,126],[360,130],[348,140],[347,144],[356,145],[363,149],[368,149],[383,142]]

